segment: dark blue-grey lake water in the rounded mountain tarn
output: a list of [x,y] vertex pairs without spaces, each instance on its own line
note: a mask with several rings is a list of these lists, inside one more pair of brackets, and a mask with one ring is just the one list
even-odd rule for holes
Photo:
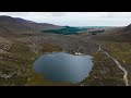
[[34,62],[33,69],[51,82],[80,83],[92,70],[92,58],[66,52],[47,53]]

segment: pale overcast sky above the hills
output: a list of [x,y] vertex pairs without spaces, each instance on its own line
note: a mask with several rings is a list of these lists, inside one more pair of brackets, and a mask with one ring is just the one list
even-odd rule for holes
[[131,24],[131,12],[0,12],[0,15],[61,26],[127,26]]

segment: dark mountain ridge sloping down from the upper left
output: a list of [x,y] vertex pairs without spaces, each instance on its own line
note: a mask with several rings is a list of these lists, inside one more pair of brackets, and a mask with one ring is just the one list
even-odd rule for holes
[[48,24],[48,23],[36,23],[20,17],[12,17],[7,15],[0,16],[0,33],[10,32],[10,33],[20,33],[27,30],[44,30],[44,29],[58,29],[62,26]]

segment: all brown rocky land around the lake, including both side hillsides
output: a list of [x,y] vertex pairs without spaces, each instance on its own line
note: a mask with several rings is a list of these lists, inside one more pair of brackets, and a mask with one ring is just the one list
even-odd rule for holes
[[[116,62],[128,72],[126,77],[131,85],[130,26],[109,28],[98,35],[40,32],[58,28],[61,26],[0,16],[0,86],[126,86],[124,72]],[[33,71],[33,62],[40,54],[52,51],[93,56],[94,66],[90,76],[79,84],[41,78]]]

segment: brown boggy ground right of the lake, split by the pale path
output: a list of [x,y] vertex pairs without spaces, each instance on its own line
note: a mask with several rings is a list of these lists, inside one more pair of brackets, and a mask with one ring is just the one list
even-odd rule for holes
[[[103,50],[107,51],[110,57],[119,61],[122,68],[128,72],[128,84],[131,85],[131,42],[115,40],[96,40],[102,45]],[[93,53],[94,66],[90,76],[81,82],[82,85],[91,86],[126,86],[123,82],[123,72],[118,65],[109,59],[104,52]]]

